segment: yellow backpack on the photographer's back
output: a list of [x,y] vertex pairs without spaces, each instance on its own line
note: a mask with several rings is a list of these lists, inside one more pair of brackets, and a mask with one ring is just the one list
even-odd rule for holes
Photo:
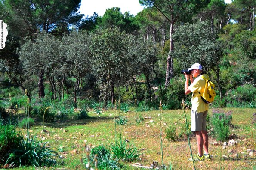
[[200,77],[205,80],[204,92],[201,94],[201,98],[205,103],[211,103],[214,101],[214,97],[216,96],[214,90],[215,85],[212,81],[208,80],[203,75],[201,75]]

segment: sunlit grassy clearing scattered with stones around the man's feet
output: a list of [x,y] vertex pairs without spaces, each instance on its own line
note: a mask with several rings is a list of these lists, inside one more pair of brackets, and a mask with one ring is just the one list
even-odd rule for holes
[[[209,153],[213,155],[213,158],[211,161],[196,162],[195,167],[198,170],[253,169],[253,165],[255,166],[256,164],[255,158],[249,157],[249,152],[247,152],[247,149],[255,149],[256,130],[253,129],[250,117],[256,110],[247,108],[225,108],[225,110],[233,112],[232,123],[234,128],[231,128],[230,131],[231,134],[237,135],[238,143],[235,146],[227,146],[225,149],[222,149],[223,146],[213,146],[212,143],[216,142],[216,140],[210,137]],[[209,114],[211,113],[210,109]],[[64,157],[64,166],[58,165],[57,167],[47,169],[84,169],[80,162],[80,158],[85,155],[84,140],[87,140],[87,144],[91,143],[93,146],[98,146],[101,143],[109,146],[110,143],[113,143],[115,140],[114,114],[114,110],[107,110],[97,116],[96,113],[90,111],[90,118],[85,120],[77,120],[73,116],[66,120],[56,120],[54,123],[44,123],[44,128],[49,131],[49,133],[44,133],[44,142],[49,142],[48,145],[52,146],[54,150],[62,147],[62,151],[65,153],[63,154],[63,152],[58,151],[59,155]],[[144,119],[140,124],[137,124],[135,121],[136,114],[151,118]],[[122,139],[129,140],[129,143],[133,143],[138,149],[141,149],[142,153],[140,160],[136,160],[133,163],[138,162],[143,164],[143,166],[150,166],[153,161],[157,161],[161,165],[159,114],[159,110],[121,113],[121,115],[126,116],[129,120],[127,125],[121,125]],[[176,124],[179,127],[185,122],[182,110],[164,110],[162,116],[163,137],[168,125]],[[188,110],[187,117],[190,120],[190,110]],[[150,122],[150,120],[154,122]],[[119,134],[118,129],[119,127],[117,128],[117,135]],[[31,127],[30,134],[37,135],[40,139],[42,137],[40,131],[42,130],[43,122],[36,122],[36,125]],[[25,129],[17,128],[17,131],[21,131],[24,135],[26,134]],[[74,149],[77,149],[77,153],[72,153]],[[195,137],[191,139],[191,149],[193,154],[197,153]],[[234,150],[234,153],[229,154],[228,150],[230,149]],[[222,158],[222,155],[226,155],[227,159]],[[188,158],[190,158],[190,150],[187,140],[179,142],[163,140],[163,160],[165,165],[170,166],[171,163],[176,166],[175,169],[177,170],[191,170],[193,169],[193,163],[188,161]],[[119,162],[124,170],[139,169],[132,167],[131,164],[133,163]],[[22,167],[22,169],[28,168]],[[31,169],[34,168],[31,167]]]

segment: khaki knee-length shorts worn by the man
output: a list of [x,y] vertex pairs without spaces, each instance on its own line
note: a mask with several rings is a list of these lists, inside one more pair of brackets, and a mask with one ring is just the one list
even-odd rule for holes
[[197,113],[191,110],[191,131],[206,131],[206,117],[208,110]]

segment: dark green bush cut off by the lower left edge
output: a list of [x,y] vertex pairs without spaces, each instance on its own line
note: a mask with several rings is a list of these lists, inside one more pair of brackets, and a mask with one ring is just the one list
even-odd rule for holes
[[0,125],[0,132],[0,164],[4,164],[10,150],[15,146],[17,135],[12,125]]

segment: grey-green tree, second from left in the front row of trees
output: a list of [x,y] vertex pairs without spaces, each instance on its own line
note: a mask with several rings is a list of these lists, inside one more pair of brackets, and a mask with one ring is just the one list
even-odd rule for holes
[[[73,31],[64,36],[60,45],[60,76],[64,79],[65,74],[72,76],[74,83],[74,103],[77,102],[77,90],[82,78],[91,70],[91,54],[89,52],[90,36],[86,31]],[[63,87],[62,87],[63,92]]]

